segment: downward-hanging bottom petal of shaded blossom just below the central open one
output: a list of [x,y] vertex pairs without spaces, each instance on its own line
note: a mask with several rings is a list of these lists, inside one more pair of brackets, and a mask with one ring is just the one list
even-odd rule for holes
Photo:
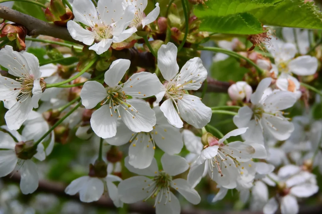
[[139,133],[137,139],[133,140],[128,149],[128,163],[135,168],[144,169],[150,166],[153,160],[154,148],[150,136],[146,133]]

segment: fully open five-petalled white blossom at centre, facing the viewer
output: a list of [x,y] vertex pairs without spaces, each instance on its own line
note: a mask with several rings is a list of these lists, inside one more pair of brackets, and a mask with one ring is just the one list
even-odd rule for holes
[[135,98],[156,95],[160,92],[160,81],[152,73],[140,72],[118,85],[129,66],[127,59],[115,60],[105,72],[107,88],[99,82],[87,81],[81,90],[82,104],[87,109],[94,108],[104,100],[90,118],[93,131],[101,138],[115,136],[118,118],[132,132],[150,132],[156,124],[155,112],[148,104],[142,100],[128,100],[127,95]]

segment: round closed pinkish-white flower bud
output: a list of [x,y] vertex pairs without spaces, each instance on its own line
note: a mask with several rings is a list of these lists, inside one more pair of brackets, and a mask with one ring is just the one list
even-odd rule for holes
[[228,88],[228,95],[232,100],[243,100],[249,102],[253,90],[247,82],[238,81]]

